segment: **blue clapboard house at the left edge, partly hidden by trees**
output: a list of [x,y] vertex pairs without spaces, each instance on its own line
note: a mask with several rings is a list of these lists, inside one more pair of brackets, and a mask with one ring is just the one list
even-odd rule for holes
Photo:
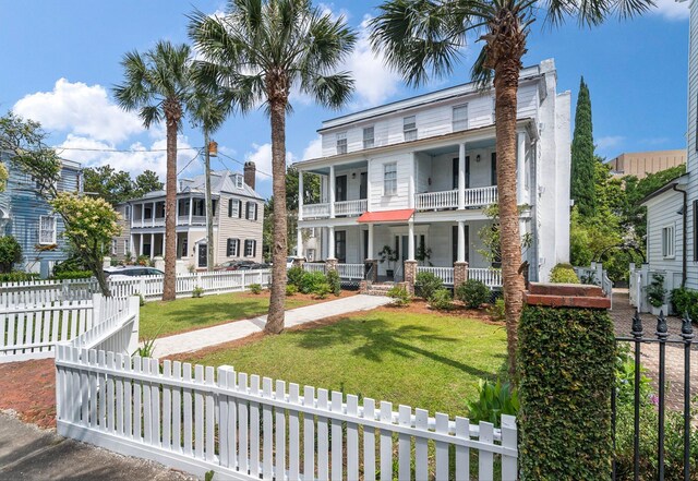
[[[13,236],[22,245],[23,258],[15,268],[48,277],[57,262],[68,258],[68,243],[61,238],[63,220],[38,194],[34,179],[7,156],[0,156],[10,178],[0,192],[0,235]],[[82,192],[80,164],[61,159],[58,190]]]

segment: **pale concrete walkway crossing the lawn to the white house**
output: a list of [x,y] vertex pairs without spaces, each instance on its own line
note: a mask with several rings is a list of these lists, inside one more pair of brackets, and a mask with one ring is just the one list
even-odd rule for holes
[[[358,294],[334,301],[318,302],[304,308],[286,311],[286,327],[293,327],[326,317],[348,314],[357,311],[370,311],[389,303],[392,299],[383,296]],[[174,336],[161,337],[155,341],[153,357],[191,352],[209,346],[216,346],[231,340],[241,339],[254,333],[261,333],[266,323],[266,315],[233,321],[219,326],[190,330]]]

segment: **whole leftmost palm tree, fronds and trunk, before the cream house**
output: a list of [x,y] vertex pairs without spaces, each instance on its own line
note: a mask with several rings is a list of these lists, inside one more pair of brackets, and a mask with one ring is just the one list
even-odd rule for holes
[[160,40],[143,56],[123,56],[124,83],[113,87],[124,110],[137,110],[143,124],[165,120],[167,128],[167,176],[165,196],[165,285],[163,300],[174,300],[177,263],[177,133],[191,95],[189,46]]

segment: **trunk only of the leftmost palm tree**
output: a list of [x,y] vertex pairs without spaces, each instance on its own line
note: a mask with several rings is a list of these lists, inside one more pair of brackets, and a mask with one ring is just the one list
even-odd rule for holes
[[[168,106],[165,106],[168,110]],[[163,300],[176,299],[177,266],[177,128],[179,122],[166,112],[167,176],[165,193],[165,280]]]

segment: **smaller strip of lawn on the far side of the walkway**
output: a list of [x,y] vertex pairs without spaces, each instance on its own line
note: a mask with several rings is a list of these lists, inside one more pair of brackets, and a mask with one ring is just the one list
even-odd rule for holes
[[[300,308],[312,302],[302,298],[287,298],[286,308]],[[234,292],[171,302],[147,302],[141,308],[141,339],[254,317],[266,314],[268,308],[268,293],[254,296]]]

